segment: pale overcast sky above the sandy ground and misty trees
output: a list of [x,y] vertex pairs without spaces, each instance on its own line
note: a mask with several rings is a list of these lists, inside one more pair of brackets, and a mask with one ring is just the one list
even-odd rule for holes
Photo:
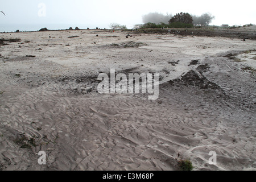
[[[215,16],[211,24],[243,25],[256,23],[255,3],[242,1],[203,0],[1,0],[1,24],[93,24],[106,27],[110,23],[132,27],[142,23],[147,13],[172,14],[185,12],[193,15],[210,13]],[[39,16],[40,3],[46,5],[46,16]],[[40,11],[41,15],[43,11]]]

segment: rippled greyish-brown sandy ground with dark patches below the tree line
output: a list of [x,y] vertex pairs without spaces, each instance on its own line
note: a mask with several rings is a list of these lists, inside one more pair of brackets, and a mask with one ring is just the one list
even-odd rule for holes
[[[255,30],[1,33],[0,170],[255,170]],[[98,93],[110,69],[159,73],[158,99]]]

